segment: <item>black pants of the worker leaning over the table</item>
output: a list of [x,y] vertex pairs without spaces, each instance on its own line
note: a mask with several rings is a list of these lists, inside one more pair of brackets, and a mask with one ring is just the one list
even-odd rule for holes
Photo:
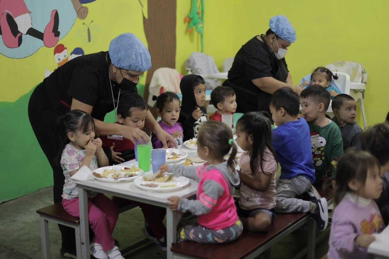
[[[35,137],[37,137],[40,148],[46,155],[46,158],[53,169],[54,203],[62,201],[61,195],[63,192],[63,184],[65,183],[63,170],[59,163],[54,161],[58,152],[55,135],[58,117],[60,117],[60,114],[56,113],[51,107],[50,101],[47,99],[42,85],[38,85],[31,94],[30,101],[28,102],[28,119],[30,120],[30,124]],[[58,224],[58,226],[61,231],[62,249],[66,252],[75,253],[74,229],[60,224]],[[89,233],[93,235],[93,232],[90,229]]]

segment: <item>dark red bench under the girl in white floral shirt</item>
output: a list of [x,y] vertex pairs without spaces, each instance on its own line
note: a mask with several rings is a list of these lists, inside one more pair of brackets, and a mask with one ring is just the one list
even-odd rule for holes
[[[123,199],[124,200],[124,199]],[[128,200],[127,200],[128,201]],[[132,208],[137,207],[136,205],[122,202],[117,203],[119,206],[119,213],[125,212]],[[68,226],[70,228],[74,228],[75,231],[75,243],[76,243],[76,252],[77,258],[81,257],[81,239],[80,239],[80,219],[77,217],[73,217],[68,214],[62,207],[61,203],[56,203],[44,208],[40,208],[37,210],[37,214],[39,214],[40,221],[40,238],[42,242],[42,258],[49,259],[51,258],[50,254],[50,236],[49,236],[49,221],[57,224],[61,224],[64,226]],[[149,243],[147,238],[144,238],[136,243],[131,244],[129,247],[120,250],[122,254],[129,252],[141,245]]]

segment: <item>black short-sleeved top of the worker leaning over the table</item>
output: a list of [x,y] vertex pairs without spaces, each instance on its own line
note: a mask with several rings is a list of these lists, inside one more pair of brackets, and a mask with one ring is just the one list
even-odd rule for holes
[[[93,106],[91,115],[100,121],[114,110],[106,54],[107,51],[102,51],[72,59],[37,86],[43,87],[40,92],[46,95],[45,100],[54,112],[60,115],[68,112],[72,98]],[[114,84],[112,89],[116,104],[119,89]]]

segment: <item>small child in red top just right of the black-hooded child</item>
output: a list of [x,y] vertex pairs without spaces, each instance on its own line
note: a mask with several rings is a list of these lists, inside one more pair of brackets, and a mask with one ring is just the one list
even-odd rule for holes
[[221,121],[222,114],[233,114],[237,110],[237,96],[231,87],[216,87],[211,93],[211,102],[217,111],[209,116],[210,121]]

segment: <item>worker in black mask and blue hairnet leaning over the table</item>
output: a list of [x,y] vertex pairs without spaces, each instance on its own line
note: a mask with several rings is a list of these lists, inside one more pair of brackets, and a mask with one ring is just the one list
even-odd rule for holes
[[[124,33],[111,41],[109,51],[80,56],[60,66],[33,91],[28,103],[28,117],[42,151],[53,168],[54,203],[61,202],[65,181],[61,166],[56,165],[56,124],[69,110],[88,112],[95,120],[96,135],[122,135],[135,144],[149,141],[137,128],[106,123],[104,117],[116,110],[120,95],[137,93],[140,75],[151,67],[149,51],[132,33]],[[145,127],[154,132],[164,147],[177,147],[147,111]],[[110,154],[110,152],[106,152]],[[61,254],[75,254],[74,230],[61,226]]]

